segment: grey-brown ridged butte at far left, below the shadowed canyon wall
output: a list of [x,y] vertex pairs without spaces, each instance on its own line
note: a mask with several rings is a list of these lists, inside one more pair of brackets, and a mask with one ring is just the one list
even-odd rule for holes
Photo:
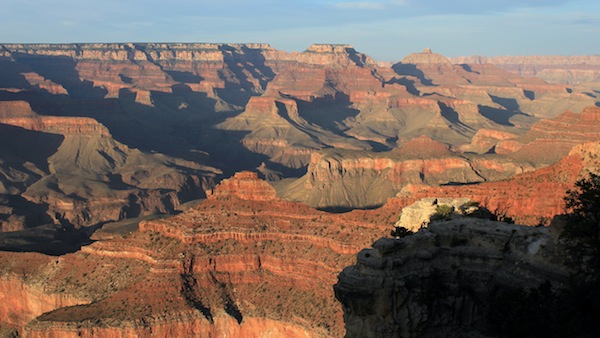
[[[12,176],[5,175],[5,184],[13,188],[6,192],[47,205],[57,223],[78,227],[173,212],[179,203],[203,196],[219,173],[209,166],[131,149],[91,118],[29,115],[0,118],[0,123],[12,135],[27,136],[26,141],[11,138],[17,146],[10,150],[23,159],[12,160],[16,163],[9,168]],[[9,155],[4,158],[11,160]]]

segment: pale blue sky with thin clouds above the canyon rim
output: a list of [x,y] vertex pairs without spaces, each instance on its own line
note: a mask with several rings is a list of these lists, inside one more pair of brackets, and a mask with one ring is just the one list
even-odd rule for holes
[[600,54],[598,0],[0,0],[0,43],[351,44],[380,61]]

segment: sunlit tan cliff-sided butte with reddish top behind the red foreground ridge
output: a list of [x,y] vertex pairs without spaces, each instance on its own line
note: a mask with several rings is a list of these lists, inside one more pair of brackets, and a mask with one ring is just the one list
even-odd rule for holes
[[408,184],[474,183],[529,170],[485,156],[465,157],[422,136],[390,152],[326,150],[311,157],[306,175],[277,182],[280,196],[317,208],[344,210],[380,206]]

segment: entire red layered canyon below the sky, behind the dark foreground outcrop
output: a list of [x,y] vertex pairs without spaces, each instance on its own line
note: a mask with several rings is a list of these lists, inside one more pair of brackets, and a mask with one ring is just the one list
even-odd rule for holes
[[[598,74],[595,56],[0,44],[0,333],[362,337],[457,320],[485,333],[465,313],[489,290],[445,295],[466,305],[429,319],[402,276],[429,282],[435,267],[452,283],[444,269],[463,264],[466,284],[561,283],[554,225],[390,231],[442,199],[553,223],[600,167]],[[405,307],[386,303],[399,294]]]

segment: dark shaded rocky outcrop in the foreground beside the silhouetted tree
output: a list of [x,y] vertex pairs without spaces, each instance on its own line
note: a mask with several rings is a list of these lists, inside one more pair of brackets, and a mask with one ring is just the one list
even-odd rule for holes
[[568,279],[549,230],[464,218],[378,240],[334,286],[346,337],[494,336],[495,292]]

